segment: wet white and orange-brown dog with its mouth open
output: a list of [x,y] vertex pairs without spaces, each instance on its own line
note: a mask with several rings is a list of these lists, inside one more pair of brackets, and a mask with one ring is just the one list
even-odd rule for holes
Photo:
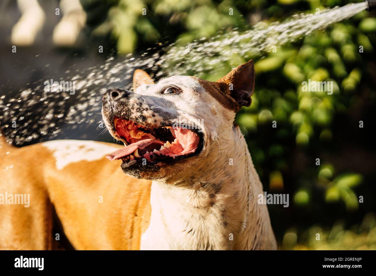
[[[52,140],[15,148],[0,137],[0,194],[8,195],[0,198],[0,249],[55,249],[63,234],[53,230],[55,212],[79,250],[277,249],[234,122],[251,104],[254,80],[252,60],[218,81],[154,83],[136,69],[133,91],[102,98],[106,128],[124,146]],[[20,195],[30,195],[29,207],[15,204]]]

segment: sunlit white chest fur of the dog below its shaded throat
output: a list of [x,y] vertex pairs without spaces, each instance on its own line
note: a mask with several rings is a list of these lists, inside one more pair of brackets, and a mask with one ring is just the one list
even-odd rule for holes
[[[169,193],[171,190],[169,191]],[[141,250],[230,249],[226,218],[215,207],[200,210],[184,193],[172,196],[153,181],[150,225],[141,237]],[[228,233],[227,233],[228,232]]]

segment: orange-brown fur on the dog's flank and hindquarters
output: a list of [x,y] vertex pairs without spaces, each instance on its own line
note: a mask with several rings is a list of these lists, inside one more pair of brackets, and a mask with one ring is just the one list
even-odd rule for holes
[[0,249],[52,249],[51,202],[76,249],[139,249],[149,226],[151,181],[125,175],[120,161],[104,157],[58,170],[42,144],[9,154],[2,148],[0,155],[1,168],[13,164],[0,170],[0,193],[30,194],[29,208],[0,205]]

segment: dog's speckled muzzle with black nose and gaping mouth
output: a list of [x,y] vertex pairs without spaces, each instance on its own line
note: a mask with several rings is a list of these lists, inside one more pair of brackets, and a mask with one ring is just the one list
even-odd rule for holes
[[198,129],[173,125],[176,115],[161,108],[156,113],[153,105],[147,104],[151,101],[148,96],[142,98],[144,101],[139,101],[138,94],[124,89],[109,89],[103,95],[106,127],[125,145],[108,155],[109,160],[121,159],[122,168],[127,169],[141,163],[144,167],[145,161],[147,165],[155,165],[200,153],[203,135]]

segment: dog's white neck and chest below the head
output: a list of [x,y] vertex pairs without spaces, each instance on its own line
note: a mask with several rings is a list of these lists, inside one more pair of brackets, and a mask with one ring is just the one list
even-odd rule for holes
[[257,249],[261,233],[271,231],[265,205],[257,204],[262,185],[239,128],[226,140],[219,137],[211,152],[212,161],[185,181],[153,181],[141,249]]

